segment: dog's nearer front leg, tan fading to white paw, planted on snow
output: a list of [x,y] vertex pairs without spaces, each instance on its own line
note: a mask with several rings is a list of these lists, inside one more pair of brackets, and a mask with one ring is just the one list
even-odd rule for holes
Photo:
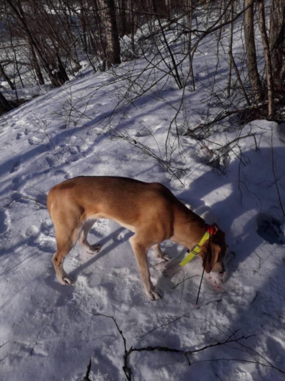
[[135,254],[136,263],[139,268],[139,274],[141,276],[141,281],[144,285],[146,295],[151,300],[161,299],[160,293],[150,280],[149,266],[147,264],[147,247],[139,241],[136,234],[130,238],[130,243]]

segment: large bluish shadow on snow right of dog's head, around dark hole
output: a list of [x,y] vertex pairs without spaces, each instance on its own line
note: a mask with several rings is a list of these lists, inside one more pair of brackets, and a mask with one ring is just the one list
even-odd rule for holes
[[[277,173],[278,164],[281,165],[285,158],[283,151],[282,147],[274,148],[274,157],[279,158],[277,160],[280,162],[276,160],[274,163]],[[271,154],[271,148],[249,150],[244,153],[244,164],[237,158],[226,168],[226,174],[220,176],[217,176],[215,171],[207,171],[193,181],[189,189],[178,195],[178,198],[187,200],[191,209],[202,216],[206,223],[216,222],[225,232],[229,252],[235,253],[236,266],[264,242],[263,237],[270,243],[285,243],[284,235],[279,228],[285,222],[285,218],[282,216],[277,197]],[[266,160],[268,167],[262,167],[259,173],[255,173],[256,163],[261,158],[262,162]],[[281,183],[281,178],[278,180]],[[226,188],[225,196],[223,188]],[[209,194],[215,194],[214,197],[218,198],[211,207],[207,205]],[[284,192],[283,197],[281,194],[281,199],[285,199]],[[243,225],[244,219],[247,221],[245,225]],[[268,220],[267,226],[266,220]],[[277,223],[276,229],[273,220]]]

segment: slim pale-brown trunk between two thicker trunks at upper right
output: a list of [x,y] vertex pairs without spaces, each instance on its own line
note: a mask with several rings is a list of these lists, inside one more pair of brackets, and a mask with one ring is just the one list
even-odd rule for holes
[[272,66],[271,66],[271,56],[269,50],[269,42],[266,32],[265,24],[265,14],[264,14],[264,1],[258,0],[258,10],[259,10],[259,29],[261,33],[261,39],[263,43],[264,50],[264,60],[266,66],[266,83],[267,83],[267,93],[268,93],[268,117],[274,117],[274,85],[272,77]]

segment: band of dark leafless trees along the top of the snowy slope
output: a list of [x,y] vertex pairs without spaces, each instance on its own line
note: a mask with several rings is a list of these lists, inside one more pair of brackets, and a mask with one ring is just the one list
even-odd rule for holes
[[[268,116],[273,118],[275,94],[284,92],[285,0],[2,0],[2,49],[8,44],[13,54],[3,57],[2,53],[0,74],[10,88],[15,90],[15,79],[8,75],[6,68],[13,65],[15,74],[24,86],[19,67],[25,65],[34,73],[35,83],[61,86],[69,75],[75,75],[80,69],[82,57],[89,60],[95,71],[106,70],[112,65],[120,64],[122,60],[138,58],[138,41],[135,40],[135,35],[137,29],[145,23],[149,24],[152,37],[160,34],[166,46],[164,32],[171,28],[179,29],[181,35],[188,38],[182,53],[187,54],[191,62],[197,48],[192,42],[193,33],[202,42],[203,36],[211,32],[207,32],[206,24],[204,30],[192,28],[192,19],[195,18],[198,6],[200,11],[201,7],[204,9],[206,19],[214,11],[218,11],[219,17],[214,27],[218,38],[225,27],[232,34],[232,26],[237,17],[244,18],[245,61],[250,93],[245,90],[234,62],[231,38],[228,46],[229,81],[233,68],[247,104],[268,102]],[[183,18],[188,20],[188,24],[182,24]],[[266,19],[269,21],[268,25]],[[154,27],[155,20],[158,20],[159,27]],[[262,39],[266,72],[264,78],[258,70],[256,58],[256,27],[259,28]],[[131,40],[128,54],[122,54],[121,51],[120,39],[124,35],[129,35]],[[17,46],[23,41],[28,51],[24,62],[17,54]],[[183,88],[185,83],[179,76],[179,65],[169,46],[167,54],[171,59],[169,69],[177,86]],[[195,89],[193,69],[190,77]],[[4,99],[1,94],[0,104],[3,109],[8,110],[12,106]]]

